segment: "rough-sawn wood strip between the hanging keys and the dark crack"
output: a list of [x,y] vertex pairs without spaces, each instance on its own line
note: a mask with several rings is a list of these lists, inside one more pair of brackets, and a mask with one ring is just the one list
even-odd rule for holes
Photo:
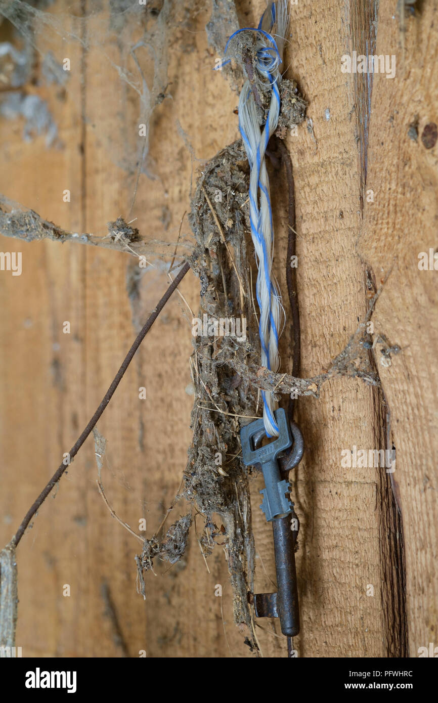
[[[354,248],[361,224],[361,170],[352,120],[354,83],[340,71],[351,31],[347,12],[337,3],[299,4],[291,11],[292,43],[285,65],[292,60],[290,72],[309,101],[307,116],[313,124],[313,131],[303,125],[287,142],[297,204],[302,375],[309,376],[328,368],[366,312],[363,267]],[[278,216],[283,227],[278,222],[276,228],[276,266],[285,290],[284,196],[282,202],[277,194],[274,208],[283,212]],[[283,370],[290,371],[286,345],[282,352]],[[380,470],[341,466],[342,450],[375,447],[373,413],[371,389],[359,380],[335,380],[320,399],[298,401],[297,420],[307,446],[293,472],[301,521],[297,572],[302,630],[294,639],[299,656],[385,654],[376,494]],[[254,520],[262,556],[256,587],[272,590],[271,528],[257,510]],[[368,584],[374,587],[373,597],[366,595]],[[279,655],[276,638],[263,635],[260,640],[265,655]]]

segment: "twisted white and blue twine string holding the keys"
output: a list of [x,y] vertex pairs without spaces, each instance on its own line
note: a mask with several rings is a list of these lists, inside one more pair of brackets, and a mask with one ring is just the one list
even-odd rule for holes
[[[260,127],[257,105],[249,80],[243,85],[239,97],[239,129],[243,138],[247,160],[250,165],[250,225],[251,237],[257,261],[256,295],[259,305],[259,337],[262,347],[262,366],[274,372],[280,368],[278,335],[283,314],[281,293],[272,272],[273,224],[269,177],[266,170],[265,153],[269,138],[276,130],[280,114],[281,82],[279,70],[282,63],[285,32],[289,24],[286,0],[271,3],[262,15],[257,29],[245,27],[231,35],[228,44],[240,32],[256,32],[255,67],[259,76],[271,90],[271,101],[264,126]],[[266,31],[269,30],[269,31]],[[274,35],[277,40],[274,39]],[[263,420],[266,435],[278,437],[278,425],[273,415],[273,394],[262,391]]]

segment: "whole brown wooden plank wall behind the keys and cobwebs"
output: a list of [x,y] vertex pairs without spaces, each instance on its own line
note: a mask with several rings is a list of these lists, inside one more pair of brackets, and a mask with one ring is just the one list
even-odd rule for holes
[[[1,193],[71,231],[105,233],[105,224],[122,215],[137,218],[143,238],[176,241],[197,169],[238,136],[236,93],[211,70],[219,57],[204,31],[210,3],[184,5],[177,4],[168,25],[172,97],[157,105],[150,123],[148,163],[155,179],[141,175],[132,212],[136,176],[125,157],[138,129],[138,96],[112,65],[122,60],[122,31],[105,51],[96,45],[85,51],[80,42],[64,43],[47,32],[44,51],[71,58],[65,97],[50,86],[26,90],[48,102],[63,146],[46,148],[43,136],[25,142],[20,120],[1,119]],[[243,0],[237,8],[240,25],[253,26],[264,3]],[[50,10],[81,16],[90,8],[85,0],[76,6],[59,0]],[[436,3],[407,20],[404,64],[397,13],[393,19],[386,0],[367,11],[339,0],[300,0],[290,10],[285,65],[309,101],[311,119],[286,140],[295,175],[302,375],[330,366],[366,315],[369,281],[378,289],[386,281],[372,318],[382,389],[337,378],[319,399],[298,401],[307,449],[293,476],[302,614],[294,645],[302,657],[404,656],[407,645],[416,656],[418,647],[434,641],[437,621],[436,293],[434,272],[417,267],[418,252],[436,247],[437,161],[436,148],[425,149],[408,129],[418,119],[421,135],[425,124],[437,121]],[[99,22],[100,29],[109,27],[110,17],[101,15]],[[368,38],[371,45],[376,26],[378,53],[395,54],[397,72],[394,79],[374,76],[370,115],[367,86],[342,73],[340,59],[361,51]],[[39,70],[37,64],[37,76]],[[65,188],[70,203],[63,202]],[[372,203],[367,188],[375,193]],[[284,193],[276,189],[274,204],[276,270],[285,291]],[[182,232],[189,233],[186,221]],[[150,269],[132,295],[128,254],[6,238],[1,248],[22,251],[23,262],[19,277],[0,272],[3,544],[94,412],[167,278],[162,266]],[[181,291],[197,309],[194,276]],[[63,334],[64,321],[71,323],[70,335]],[[392,366],[380,363],[381,335],[401,348]],[[292,364],[288,342],[285,336],[284,372]],[[148,536],[186,464],[190,354],[188,311],[175,295],[98,424],[108,440],[108,499],[134,529],[146,517]],[[141,386],[146,400],[139,399]],[[387,449],[388,442],[397,451],[392,482],[384,468],[342,467],[343,450]],[[207,572],[192,530],[181,563],[172,569],[157,564],[157,576],[146,574],[143,601],[136,593],[139,544],[110,517],[96,475],[89,439],[20,543],[17,645],[23,654],[136,657],[146,650],[149,657],[252,657],[233,625],[223,550],[214,550]],[[271,590],[271,529],[258,510],[260,487],[255,479],[256,586]],[[184,510],[179,504],[174,517]],[[218,583],[222,598],[214,595]],[[63,595],[65,584],[70,597]],[[259,625],[263,655],[284,655],[278,624]]]

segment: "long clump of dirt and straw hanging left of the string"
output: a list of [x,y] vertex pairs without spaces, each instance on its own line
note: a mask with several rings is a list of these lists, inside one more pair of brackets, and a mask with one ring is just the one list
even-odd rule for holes
[[256,414],[257,389],[236,375],[229,364],[230,359],[238,358],[244,363],[245,359],[255,360],[258,356],[257,321],[247,266],[248,179],[245,151],[238,140],[221,150],[203,169],[192,200],[189,220],[197,247],[191,266],[202,281],[198,316],[233,318],[236,328],[238,321],[245,319],[247,331],[245,338],[228,335],[194,339],[193,442],[184,477],[186,497],[195,501],[207,522],[213,513],[221,517],[234,619],[250,631],[247,592],[252,591],[255,550],[249,472],[233,455],[240,453],[241,423],[245,416]]

